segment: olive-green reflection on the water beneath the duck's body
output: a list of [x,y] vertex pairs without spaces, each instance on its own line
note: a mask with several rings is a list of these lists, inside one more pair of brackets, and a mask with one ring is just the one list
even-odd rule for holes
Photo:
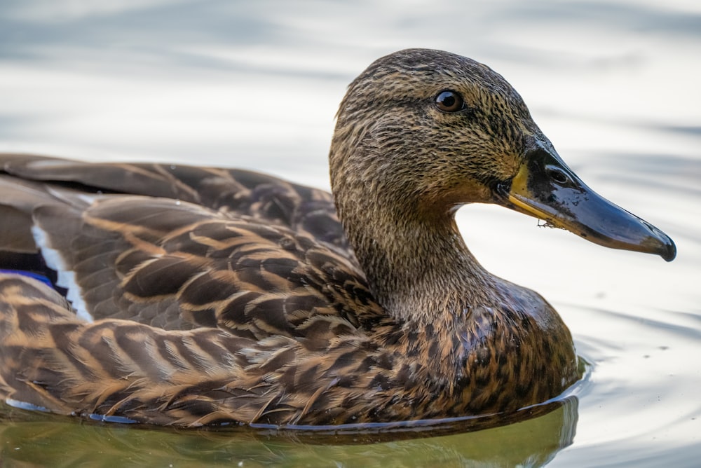
[[[539,467],[576,433],[576,397],[554,411],[517,424],[468,434],[396,440],[365,445],[353,436],[314,436],[261,432],[176,432],[116,425],[78,424],[46,418],[0,426],[0,458],[6,463],[91,467],[115,465],[307,467],[458,466]],[[13,410],[16,411],[16,410]],[[22,415],[27,418],[27,415]],[[357,437],[361,437],[358,435]]]

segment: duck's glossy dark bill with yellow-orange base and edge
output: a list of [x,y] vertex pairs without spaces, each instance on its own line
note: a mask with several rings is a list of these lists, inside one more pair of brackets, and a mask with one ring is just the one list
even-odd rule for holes
[[668,235],[592,191],[554,151],[533,151],[498,202],[613,249],[676,256]]

